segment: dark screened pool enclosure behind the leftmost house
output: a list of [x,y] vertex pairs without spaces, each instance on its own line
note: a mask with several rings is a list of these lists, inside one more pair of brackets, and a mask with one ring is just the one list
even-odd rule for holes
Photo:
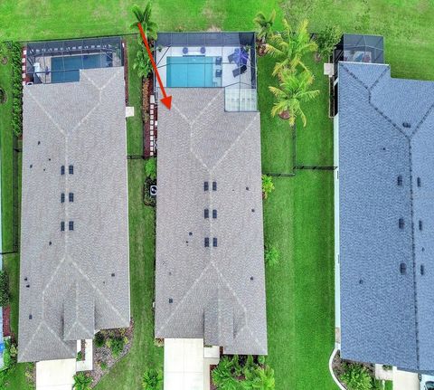
[[26,82],[54,83],[80,80],[80,69],[123,65],[120,37],[27,43]]

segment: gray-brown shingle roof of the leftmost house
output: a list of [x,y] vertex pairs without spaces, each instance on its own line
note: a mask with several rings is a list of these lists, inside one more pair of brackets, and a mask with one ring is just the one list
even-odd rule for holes
[[129,325],[124,89],[123,68],[24,87],[21,362],[75,357],[73,340]]

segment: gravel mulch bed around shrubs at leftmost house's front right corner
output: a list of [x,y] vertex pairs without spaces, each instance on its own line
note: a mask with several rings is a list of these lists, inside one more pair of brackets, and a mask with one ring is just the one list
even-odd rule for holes
[[[113,357],[109,347],[106,347],[105,345],[103,347],[96,347],[94,343],[93,371],[90,371],[89,373],[90,377],[92,378],[92,387],[97,385],[102,376],[109,373],[110,368],[114,366],[122,357],[125,357],[131,349],[133,344],[134,322],[131,319],[129,328],[101,330],[101,333],[104,334],[106,338],[126,337],[128,342],[117,358]],[[105,370],[101,368],[101,363],[103,362],[107,365]]]

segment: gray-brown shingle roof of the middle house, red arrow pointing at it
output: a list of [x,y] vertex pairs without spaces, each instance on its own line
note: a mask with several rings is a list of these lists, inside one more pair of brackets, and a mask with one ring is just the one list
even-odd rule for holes
[[225,112],[223,89],[168,93],[173,107],[158,114],[156,337],[267,354],[259,113]]

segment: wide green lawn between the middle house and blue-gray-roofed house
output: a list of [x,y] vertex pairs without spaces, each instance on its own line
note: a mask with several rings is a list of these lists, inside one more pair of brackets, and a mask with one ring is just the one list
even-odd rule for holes
[[[307,59],[316,75],[318,100],[307,105],[307,127],[297,123],[297,164],[333,165],[333,128],[327,118],[328,84],[322,64]],[[273,61],[259,59],[262,170],[292,172],[288,122],[271,118],[267,87]],[[333,173],[299,171],[274,178],[276,191],[264,203],[265,242],[281,252],[267,269],[269,364],[276,389],[335,389],[328,372],[334,346]]]

